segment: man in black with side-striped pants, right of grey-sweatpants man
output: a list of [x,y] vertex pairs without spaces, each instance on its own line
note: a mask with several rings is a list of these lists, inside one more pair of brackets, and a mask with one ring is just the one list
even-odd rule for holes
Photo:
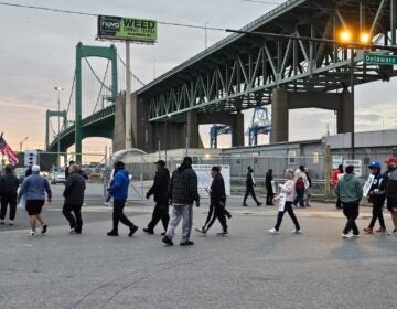
[[217,219],[222,225],[222,233],[218,233],[219,236],[227,236],[227,223],[226,216],[230,214],[226,210],[226,190],[225,181],[221,174],[221,167],[213,167],[211,169],[211,177],[213,178],[212,184],[208,188],[207,192],[210,193],[210,212],[207,214],[207,220],[202,227],[202,230],[196,230],[202,234],[206,234],[211,226],[214,224]]

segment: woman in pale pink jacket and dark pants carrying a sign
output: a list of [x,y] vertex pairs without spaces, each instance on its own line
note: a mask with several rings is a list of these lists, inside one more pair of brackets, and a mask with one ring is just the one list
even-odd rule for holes
[[293,193],[294,193],[294,181],[293,181],[293,170],[287,170],[286,171],[286,179],[287,181],[283,184],[280,184],[280,189],[281,189],[281,193],[280,195],[286,195],[286,199],[280,199],[280,202],[283,203],[283,205],[279,206],[279,213],[277,215],[277,222],[273,228],[269,230],[270,234],[277,234],[281,222],[282,222],[282,217],[285,212],[288,212],[288,214],[290,215],[290,217],[292,219],[292,222],[296,226],[294,230],[292,230],[292,234],[301,234],[301,228],[298,222],[297,216],[293,213],[293,209],[292,209],[292,202],[293,202]]

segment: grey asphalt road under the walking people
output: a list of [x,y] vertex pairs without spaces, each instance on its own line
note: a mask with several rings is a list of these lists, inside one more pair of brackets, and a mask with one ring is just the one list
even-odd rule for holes
[[[215,223],[181,247],[179,227],[167,247],[160,226],[155,235],[140,230],[130,238],[120,227],[119,237],[107,237],[110,210],[94,201],[84,209],[84,233],[68,235],[61,204],[45,210],[46,236],[28,236],[22,213],[12,230],[0,227],[0,308],[396,308],[397,237],[343,241],[345,219],[333,205],[297,210],[301,235],[290,234],[288,215],[269,235],[277,210],[232,198],[228,237],[215,235]],[[133,202],[126,212],[144,227],[151,209],[151,201]],[[194,227],[206,209],[206,201],[195,209]],[[362,209],[361,230],[369,211]]]

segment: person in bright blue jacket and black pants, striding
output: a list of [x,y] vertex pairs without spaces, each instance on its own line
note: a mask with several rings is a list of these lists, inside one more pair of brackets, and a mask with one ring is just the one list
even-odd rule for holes
[[126,205],[126,200],[128,196],[128,171],[125,170],[125,164],[122,161],[117,161],[115,163],[115,179],[108,189],[109,194],[114,198],[114,228],[107,233],[108,236],[118,236],[119,222],[124,223],[130,228],[130,232],[128,234],[128,236],[130,237],[138,230],[138,226],[136,226],[131,221],[129,221],[128,217],[124,214],[124,207]]

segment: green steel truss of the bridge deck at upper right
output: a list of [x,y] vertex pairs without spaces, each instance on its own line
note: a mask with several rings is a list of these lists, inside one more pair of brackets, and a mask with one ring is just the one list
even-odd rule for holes
[[[330,40],[348,29],[355,38],[367,32],[373,43],[396,45],[396,0],[290,0],[244,29]],[[396,75],[393,68],[364,64],[365,52],[354,51],[355,85]],[[138,94],[150,102],[151,121],[185,121],[190,110],[237,113],[270,104],[278,87],[346,89],[350,56],[341,45],[233,34]]]

